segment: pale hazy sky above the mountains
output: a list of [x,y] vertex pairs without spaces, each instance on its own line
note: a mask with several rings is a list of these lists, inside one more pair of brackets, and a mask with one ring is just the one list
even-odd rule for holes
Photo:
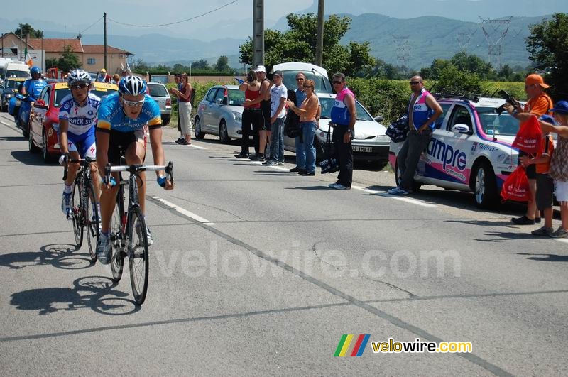
[[[95,0],[72,3],[68,0],[26,0],[25,4],[26,9],[35,11],[25,13],[18,6],[2,8],[0,25],[6,30],[1,31],[13,31],[18,23],[30,23],[43,31],[65,32],[67,38],[77,33],[102,34],[102,14],[107,12],[111,35],[157,33],[213,40],[246,38],[252,32],[250,20],[253,0]],[[317,9],[317,0],[265,0],[264,4],[266,28],[275,26],[288,13]],[[214,11],[222,6],[222,9]],[[497,18],[506,16],[502,12],[510,12],[513,16],[540,16],[554,11],[568,11],[567,0],[326,0],[325,6],[326,13],[383,13],[398,18],[435,15],[477,22],[478,13],[483,13],[487,18]],[[174,23],[209,11],[213,12],[170,26],[139,28],[121,25]],[[209,38],[219,25],[233,25],[234,28],[226,28],[232,30],[230,35]]]

